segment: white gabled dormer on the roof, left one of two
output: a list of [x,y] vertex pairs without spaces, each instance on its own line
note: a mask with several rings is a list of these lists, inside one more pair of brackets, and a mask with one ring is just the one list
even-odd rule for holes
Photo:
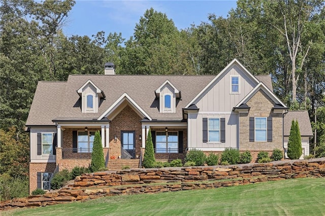
[[98,113],[100,100],[105,99],[105,94],[100,88],[88,80],[77,90],[77,93],[81,97],[82,113]]

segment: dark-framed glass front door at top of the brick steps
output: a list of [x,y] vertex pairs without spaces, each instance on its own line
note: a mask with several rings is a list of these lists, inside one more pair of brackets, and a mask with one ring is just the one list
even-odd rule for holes
[[136,155],[136,132],[121,131],[121,158],[131,159]]

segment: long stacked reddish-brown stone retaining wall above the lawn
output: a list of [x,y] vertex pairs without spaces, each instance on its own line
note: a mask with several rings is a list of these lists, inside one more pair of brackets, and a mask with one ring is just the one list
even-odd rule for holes
[[285,160],[267,164],[96,172],[76,177],[74,185],[70,188],[1,202],[0,209],[46,206],[113,195],[209,189],[289,178],[324,176],[325,158]]

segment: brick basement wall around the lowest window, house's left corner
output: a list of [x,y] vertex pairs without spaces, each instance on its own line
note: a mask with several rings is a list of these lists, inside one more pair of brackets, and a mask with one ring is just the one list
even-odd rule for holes
[[55,163],[29,163],[29,194],[37,189],[37,173],[53,172]]

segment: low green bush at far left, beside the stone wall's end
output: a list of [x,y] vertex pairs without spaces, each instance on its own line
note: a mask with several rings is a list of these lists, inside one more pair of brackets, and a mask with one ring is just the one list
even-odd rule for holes
[[0,201],[28,196],[28,177],[11,177],[8,173],[0,175]]

